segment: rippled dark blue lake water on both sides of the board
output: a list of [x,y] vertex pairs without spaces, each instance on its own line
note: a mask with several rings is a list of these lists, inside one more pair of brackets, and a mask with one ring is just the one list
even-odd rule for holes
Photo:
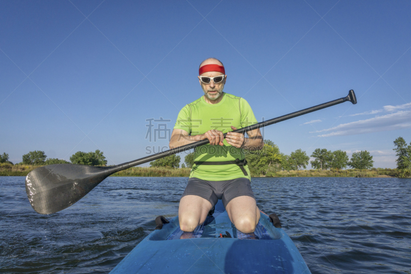
[[[188,178],[109,177],[51,215],[31,208],[25,177],[0,177],[0,272],[108,273],[177,215]],[[411,273],[411,179],[252,178],[312,273]]]

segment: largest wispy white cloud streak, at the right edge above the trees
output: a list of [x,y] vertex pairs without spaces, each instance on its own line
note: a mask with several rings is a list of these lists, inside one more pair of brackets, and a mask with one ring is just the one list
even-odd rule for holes
[[[407,104],[404,104],[407,105]],[[402,105],[402,106],[404,106]],[[395,106],[399,107],[399,106]],[[317,132],[330,132],[318,137],[357,135],[381,131],[393,131],[411,127],[411,111],[399,111],[374,118],[340,124]],[[314,133],[314,132],[311,132]]]

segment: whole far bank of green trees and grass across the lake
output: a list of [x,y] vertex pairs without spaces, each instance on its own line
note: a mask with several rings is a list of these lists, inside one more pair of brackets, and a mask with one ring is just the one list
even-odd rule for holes
[[[274,142],[265,140],[264,148],[256,151],[245,151],[246,159],[252,176],[282,177],[282,176],[347,176],[375,177],[380,175],[410,177],[411,176],[411,142],[407,145],[402,137],[394,141],[397,155],[397,169],[373,169],[372,156],[368,151],[352,153],[351,159],[345,151],[329,151],[315,149],[311,154],[313,170],[306,171],[310,157],[305,151],[298,149],[286,155],[279,151]],[[184,157],[180,167],[180,156],[170,155],[150,162],[151,168],[131,168],[121,171],[114,176],[189,176],[194,165],[194,152]],[[107,160],[103,152],[78,151],[70,157],[71,163],[90,166],[105,166]],[[47,158],[43,151],[30,151],[23,155],[23,160],[16,165],[9,161],[7,153],[0,154],[0,176],[25,176],[32,169],[69,163],[66,160]],[[347,167],[352,169],[344,170]],[[371,170],[370,170],[371,169]],[[304,175],[303,175],[304,174]]]

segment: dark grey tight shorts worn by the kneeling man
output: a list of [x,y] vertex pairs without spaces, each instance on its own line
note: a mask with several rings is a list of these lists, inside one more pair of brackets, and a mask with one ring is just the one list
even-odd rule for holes
[[224,207],[238,196],[254,197],[251,182],[247,178],[237,178],[225,181],[207,181],[199,178],[190,178],[185,187],[185,195],[196,195],[208,200],[214,207],[218,199],[222,199]]

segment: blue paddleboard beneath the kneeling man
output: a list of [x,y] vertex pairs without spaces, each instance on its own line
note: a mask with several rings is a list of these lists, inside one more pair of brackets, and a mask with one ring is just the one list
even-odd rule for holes
[[241,233],[219,200],[189,239],[180,239],[183,233],[188,232],[181,231],[178,216],[172,218],[110,273],[311,273],[287,233],[264,212],[254,233]]

